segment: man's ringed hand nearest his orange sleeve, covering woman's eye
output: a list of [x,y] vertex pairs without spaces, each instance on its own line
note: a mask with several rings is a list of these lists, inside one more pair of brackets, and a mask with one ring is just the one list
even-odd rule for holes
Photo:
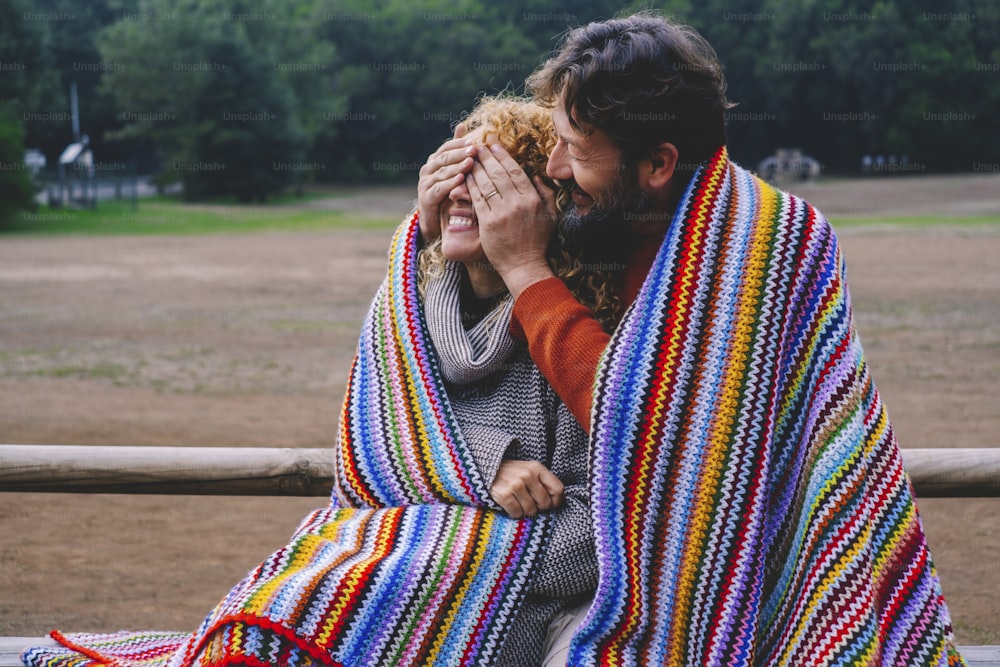
[[498,145],[470,147],[476,163],[466,182],[479,220],[483,252],[516,299],[553,275],[545,259],[558,217],[555,191],[528,178]]

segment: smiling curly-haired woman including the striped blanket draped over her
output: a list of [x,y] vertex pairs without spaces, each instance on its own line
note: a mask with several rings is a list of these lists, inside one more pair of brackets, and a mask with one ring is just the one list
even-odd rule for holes
[[[463,126],[544,173],[554,141],[544,110],[487,99]],[[440,239],[418,250],[429,221],[415,214],[393,240],[351,370],[330,505],[196,633],[54,633],[72,649],[65,660],[38,649],[27,664],[85,664],[81,654],[157,665],[541,662],[549,621],[596,586],[587,439],[511,338],[511,303],[464,184],[435,201],[429,182],[420,208],[437,205]],[[599,281],[581,280],[558,244],[551,254],[581,299],[603,303]]]

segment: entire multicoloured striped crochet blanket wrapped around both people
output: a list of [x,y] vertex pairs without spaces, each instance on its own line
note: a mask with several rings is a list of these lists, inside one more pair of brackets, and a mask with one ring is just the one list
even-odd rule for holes
[[[403,247],[415,233],[411,221]],[[194,643],[232,646],[245,664],[315,664],[320,651],[351,664],[491,664],[544,526],[477,507],[482,480],[421,347],[399,244],[352,375],[337,502],[234,589]],[[601,575],[570,665],[962,664],[836,238],[815,209],[725,150],[692,179],[612,338],[592,424]],[[369,455],[369,432],[395,437]],[[402,475],[410,466],[426,474]],[[393,528],[394,510],[344,507],[385,501],[426,509]],[[496,525],[481,528],[487,517]],[[310,570],[340,534],[356,550]],[[449,560],[445,535],[469,554]],[[428,555],[393,551],[394,536]],[[383,576],[408,570],[383,569],[380,547],[434,562],[426,571],[450,587]],[[348,562],[356,579],[330,574]],[[423,623],[425,609],[443,618]]]

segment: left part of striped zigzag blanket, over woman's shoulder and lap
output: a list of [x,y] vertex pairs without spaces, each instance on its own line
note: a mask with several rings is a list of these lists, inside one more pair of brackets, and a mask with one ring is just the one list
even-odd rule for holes
[[[55,633],[67,648],[31,649],[26,664],[496,664],[549,521],[487,509],[488,487],[429,349],[418,229],[413,218],[397,232],[362,329],[330,506],[307,517],[196,633]],[[155,641],[165,646],[148,649]]]

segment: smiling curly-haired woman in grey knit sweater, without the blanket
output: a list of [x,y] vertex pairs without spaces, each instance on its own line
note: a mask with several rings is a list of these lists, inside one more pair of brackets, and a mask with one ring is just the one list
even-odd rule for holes
[[[542,178],[554,144],[546,110],[523,100],[487,99],[463,130],[462,143],[496,141],[511,146],[512,157],[536,179],[543,197],[558,205],[559,197],[551,189],[555,184]],[[513,141],[514,137],[520,140]],[[453,149],[446,144],[442,150]],[[432,156],[429,164],[433,162]],[[513,300],[483,252],[464,181],[449,183],[444,201],[433,199],[430,191],[447,179],[444,171],[426,170],[418,191],[421,208],[437,211],[436,225],[421,222],[422,233],[433,227],[440,234],[421,254],[421,287],[449,398],[477,466],[486,479],[494,480],[490,493],[500,507],[513,517],[558,508],[550,546],[507,640],[508,646],[537,646],[540,629],[555,614],[566,613],[568,601],[596,585],[585,483],[586,436],[526,347],[510,334]],[[550,263],[574,285],[581,300],[610,318],[617,304],[599,289],[608,276],[583,272],[565,245],[562,239],[554,240]],[[513,439],[512,427],[519,431]],[[499,664],[538,664],[537,656],[519,657],[520,661]]]

